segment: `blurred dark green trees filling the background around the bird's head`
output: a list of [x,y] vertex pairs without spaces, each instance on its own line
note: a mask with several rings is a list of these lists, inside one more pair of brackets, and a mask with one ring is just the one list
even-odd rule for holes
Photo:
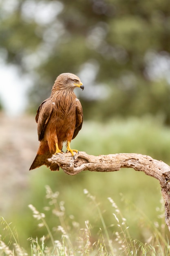
[[170,123],[167,0],[1,0],[0,7],[0,52],[29,72],[30,110],[58,74],[73,72],[85,85],[85,118],[150,112]]

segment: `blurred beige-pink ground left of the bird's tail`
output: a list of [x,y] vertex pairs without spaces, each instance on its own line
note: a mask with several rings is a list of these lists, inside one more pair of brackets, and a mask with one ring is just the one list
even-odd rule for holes
[[0,215],[28,186],[29,167],[38,149],[36,129],[33,116],[0,113]]

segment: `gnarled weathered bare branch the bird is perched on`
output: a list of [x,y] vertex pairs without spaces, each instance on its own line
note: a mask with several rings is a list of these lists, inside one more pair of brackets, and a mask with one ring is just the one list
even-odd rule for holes
[[88,155],[79,152],[73,158],[70,153],[53,155],[48,159],[58,164],[65,173],[76,175],[81,171],[110,172],[120,168],[133,168],[159,180],[165,200],[165,222],[170,231],[170,166],[162,161],[141,154]]

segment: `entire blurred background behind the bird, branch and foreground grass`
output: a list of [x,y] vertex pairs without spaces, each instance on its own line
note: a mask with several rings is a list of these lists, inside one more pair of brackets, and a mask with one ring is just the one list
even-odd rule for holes
[[[46,184],[60,192],[68,216],[81,226],[90,220],[97,230],[101,220],[83,193],[88,189],[100,203],[110,234],[116,229],[110,228],[107,198],[113,198],[131,236],[145,243],[148,222],[139,212],[157,220],[157,180],[131,169],[73,177],[43,166],[28,170],[38,148],[36,110],[62,72],[77,74],[85,87],[76,91],[84,124],[72,148],[93,155],[141,153],[170,164],[169,2],[0,0],[0,54],[0,66],[13,67],[20,81],[16,90],[15,81],[7,83],[10,74],[0,83],[0,215],[17,228],[22,246],[29,247],[29,237],[42,236],[27,206],[43,211]],[[24,90],[23,101],[18,90]],[[16,116],[6,114],[7,100],[13,108],[21,101]],[[49,222],[53,227],[50,215]],[[169,236],[168,228],[165,232]]]

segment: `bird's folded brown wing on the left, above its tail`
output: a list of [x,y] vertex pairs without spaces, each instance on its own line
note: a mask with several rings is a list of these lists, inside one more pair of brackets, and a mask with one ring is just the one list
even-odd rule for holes
[[37,130],[38,130],[39,141],[41,141],[44,137],[46,124],[48,123],[51,117],[52,111],[53,111],[53,103],[50,99],[46,99],[45,101],[43,101],[37,110],[37,115],[35,117],[35,120],[38,124]]

